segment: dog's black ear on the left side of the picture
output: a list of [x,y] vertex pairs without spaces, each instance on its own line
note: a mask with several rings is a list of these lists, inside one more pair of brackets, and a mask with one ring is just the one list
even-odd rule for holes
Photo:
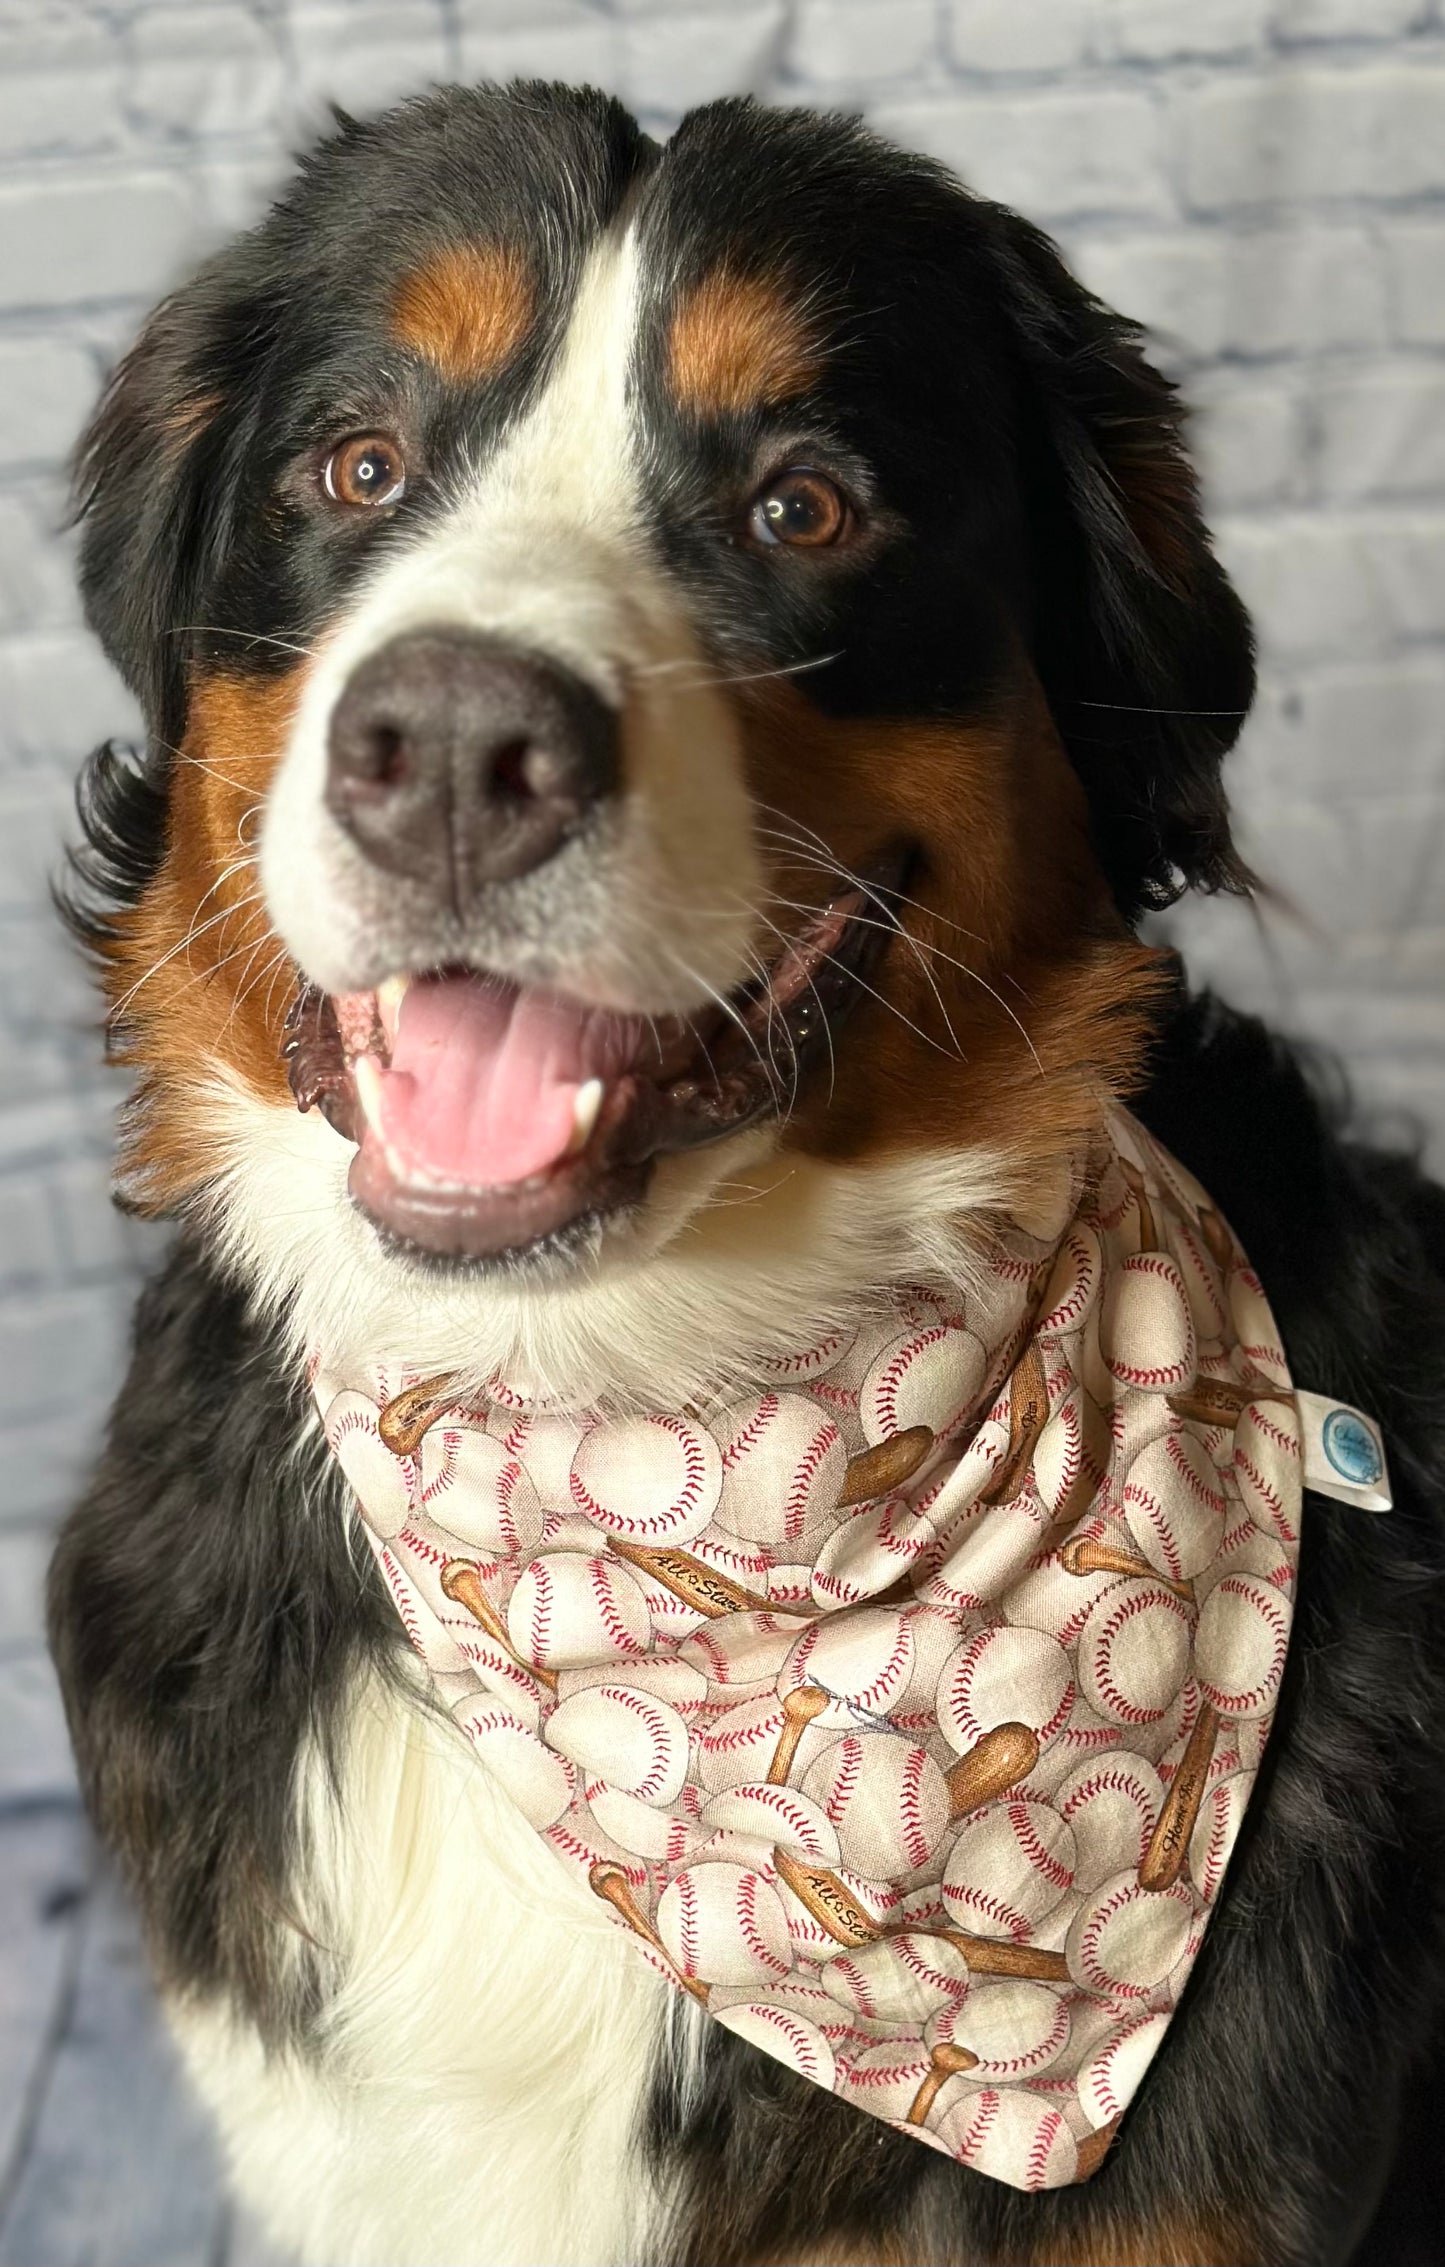
[[[136,694],[152,741],[179,746],[211,562],[250,438],[229,354],[227,256],[154,311],[75,453],[86,621]],[[254,399],[254,388],[250,390]]]

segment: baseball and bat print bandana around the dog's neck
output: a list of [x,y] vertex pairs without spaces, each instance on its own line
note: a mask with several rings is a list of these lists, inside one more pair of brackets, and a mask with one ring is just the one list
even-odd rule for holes
[[1127,1113],[728,1406],[315,1378],[438,1698],[740,2038],[1014,2188],[1102,2160],[1184,1990],[1291,1625],[1257,1276]]

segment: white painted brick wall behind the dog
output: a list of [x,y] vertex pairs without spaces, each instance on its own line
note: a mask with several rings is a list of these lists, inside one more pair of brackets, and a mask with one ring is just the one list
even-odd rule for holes
[[39,1564],[154,1249],[104,1206],[113,1095],[45,905],[70,773],[132,725],[75,610],[66,449],[147,302],[259,209],[327,100],[513,73],[599,79],[656,129],[730,88],[862,107],[1159,329],[1264,639],[1245,848],[1298,909],[1200,907],[1175,934],[1343,1045],[1445,1161],[1445,0],[9,0],[5,1564]]

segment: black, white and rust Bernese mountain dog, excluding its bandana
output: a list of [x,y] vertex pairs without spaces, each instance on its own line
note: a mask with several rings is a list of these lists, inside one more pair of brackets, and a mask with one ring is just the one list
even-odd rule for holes
[[[440,91],[152,315],[79,510],[147,746],[86,769],[70,918],[120,1197],[179,1229],[50,1632],[236,2192],[347,2267],[1347,2260],[1445,1984],[1445,1197],[1139,939],[1252,884],[1252,639],[1136,326],[855,122]],[[753,1387],[1053,1217],[1112,1097],[1395,1508],[1307,1498],[1198,1965],[1107,2160],[1030,2194],[556,1866],[309,1387]]]

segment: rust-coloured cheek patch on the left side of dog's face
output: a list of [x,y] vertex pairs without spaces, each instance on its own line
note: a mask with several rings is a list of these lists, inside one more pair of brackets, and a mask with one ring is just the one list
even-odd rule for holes
[[213,1170],[218,1070],[290,1102],[279,1050],[295,970],[261,902],[256,830],[302,678],[195,680],[166,857],[102,948],[111,1054],[138,1070],[125,1172],[143,1211],[170,1211]]

